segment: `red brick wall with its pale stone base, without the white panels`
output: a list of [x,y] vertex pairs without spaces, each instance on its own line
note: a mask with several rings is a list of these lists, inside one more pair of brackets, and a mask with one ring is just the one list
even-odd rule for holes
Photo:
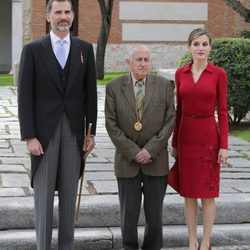
[[[32,38],[37,39],[46,33],[45,5],[46,0],[32,1]],[[199,3],[207,6],[207,19],[205,20],[120,20],[120,3]],[[250,8],[249,0],[241,2]],[[101,26],[101,13],[97,0],[79,0],[78,9],[78,37],[96,44]],[[147,17],[145,17],[147,19]],[[242,30],[250,30],[250,24],[245,23],[244,19],[227,6],[223,0],[115,0],[113,6],[112,26],[108,40],[105,67],[107,71],[126,70],[124,64],[124,53],[132,46],[135,41],[122,41],[122,32],[124,24],[189,24],[203,25],[211,33],[213,38],[217,37],[235,37]],[[170,25],[171,26],[171,25]],[[178,30],[175,31],[178,33]],[[185,40],[170,41],[143,41],[148,43],[153,50],[152,55],[155,67],[174,67],[179,58],[186,50]],[[164,59],[163,59],[164,58]],[[164,64],[164,65],[163,65]]]

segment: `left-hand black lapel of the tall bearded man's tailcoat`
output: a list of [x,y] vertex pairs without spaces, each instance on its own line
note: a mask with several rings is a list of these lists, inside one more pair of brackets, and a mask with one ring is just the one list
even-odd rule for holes
[[42,47],[45,48],[45,53],[41,53],[41,57],[42,57],[41,59],[43,60],[43,65],[47,68],[47,72],[49,72],[51,78],[57,85],[60,92],[63,93],[60,77],[59,77],[59,74],[57,73],[58,68],[57,68],[56,57],[52,49],[49,34],[44,38],[42,42]]

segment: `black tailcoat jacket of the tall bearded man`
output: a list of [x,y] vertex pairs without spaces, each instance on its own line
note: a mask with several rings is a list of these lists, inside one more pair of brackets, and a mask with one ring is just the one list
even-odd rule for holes
[[[53,137],[63,112],[68,116],[82,152],[86,124],[95,134],[97,91],[93,47],[70,37],[69,72],[64,90],[50,36],[24,46],[18,83],[18,112],[21,138],[37,138],[44,151]],[[31,156],[32,177],[42,156]]]

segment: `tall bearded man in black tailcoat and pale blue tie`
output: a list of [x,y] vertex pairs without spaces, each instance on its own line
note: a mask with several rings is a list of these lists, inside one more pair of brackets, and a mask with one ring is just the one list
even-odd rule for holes
[[[70,0],[49,0],[51,32],[23,48],[18,109],[21,137],[31,154],[39,250],[51,248],[58,190],[58,249],[73,249],[74,215],[83,155],[94,147],[97,91],[92,45],[74,38]],[[93,135],[83,152],[84,130]]]

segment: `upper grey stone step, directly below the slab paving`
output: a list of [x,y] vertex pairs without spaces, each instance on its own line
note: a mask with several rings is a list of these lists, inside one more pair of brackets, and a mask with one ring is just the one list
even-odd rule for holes
[[[249,194],[222,194],[217,199],[216,224],[250,223]],[[55,199],[54,226],[57,226],[57,198]],[[200,220],[200,218],[199,218]],[[144,225],[143,213],[139,225]],[[164,225],[183,225],[183,198],[166,195],[163,211]],[[119,227],[120,213],[117,195],[82,196],[80,216],[76,227]],[[0,230],[33,229],[33,197],[0,198]]]

